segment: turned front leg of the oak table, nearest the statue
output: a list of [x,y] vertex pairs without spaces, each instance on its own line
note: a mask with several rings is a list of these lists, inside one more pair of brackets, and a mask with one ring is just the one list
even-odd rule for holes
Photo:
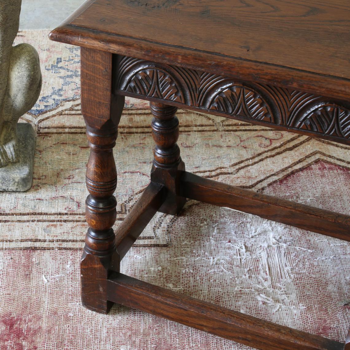
[[86,308],[107,313],[112,306],[106,297],[109,265],[119,265],[115,236],[117,171],[112,149],[124,107],[124,97],[114,96],[112,54],[81,49],[82,114],[90,158],[86,169],[86,221],[89,224],[80,264],[82,302]]

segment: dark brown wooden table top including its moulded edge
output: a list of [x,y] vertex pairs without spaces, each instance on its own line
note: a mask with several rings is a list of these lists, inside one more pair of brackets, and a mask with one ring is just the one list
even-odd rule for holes
[[350,100],[349,0],[90,0],[50,38]]

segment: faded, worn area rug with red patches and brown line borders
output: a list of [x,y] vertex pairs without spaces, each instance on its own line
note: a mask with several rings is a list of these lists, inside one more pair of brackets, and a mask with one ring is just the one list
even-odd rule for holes
[[[39,51],[43,89],[23,116],[37,131],[33,187],[0,193],[0,349],[250,349],[126,307],[80,304],[89,149],[80,115],[79,48],[22,31]],[[179,110],[187,170],[350,214],[350,147]],[[146,102],[126,99],[114,156],[116,226],[149,182]],[[121,264],[135,278],[344,342],[350,245],[238,211],[188,201],[158,214]]]

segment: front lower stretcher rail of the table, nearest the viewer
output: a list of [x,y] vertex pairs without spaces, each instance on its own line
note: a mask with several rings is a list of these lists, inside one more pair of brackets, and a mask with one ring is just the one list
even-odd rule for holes
[[343,350],[344,343],[284,327],[142,282],[121,273],[107,281],[109,300],[262,350]]

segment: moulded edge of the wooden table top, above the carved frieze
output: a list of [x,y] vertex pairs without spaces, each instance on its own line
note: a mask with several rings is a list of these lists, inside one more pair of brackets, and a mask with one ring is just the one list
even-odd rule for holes
[[348,78],[321,75],[287,66],[249,61],[72,25],[71,20],[93,2],[94,0],[84,3],[62,25],[52,30],[49,38],[53,41],[113,54],[171,63],[241,80],[286,87],[339,100],[350,100],[350,79]]

